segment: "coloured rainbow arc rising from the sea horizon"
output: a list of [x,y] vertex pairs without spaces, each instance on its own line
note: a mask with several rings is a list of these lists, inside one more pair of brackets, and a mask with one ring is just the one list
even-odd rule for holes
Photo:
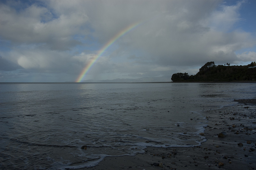
[[132,30],[133,28],[135,28],[136,26],[138,26],[140,24],[140,22],[136,22],[133,23],[131,25],[129,25],[128,27],[124,28],[123,30],[121,30],[119,33],[117,33],[114,37],[112,37],[97,53],[97,55],[95,57],[93,57],[93,59],[87,63],[87,65],[84,67],[84,69],[82,70],[82,72],[79,74],[79,76],[77,77],[75,82],[81,82],[82,79],[84,78],[85,74],[89,71],[89,69],[92,67],[92,65],[97,61],[97,59],[102,55],[102,53],[108,49],[109,46],[111,46],[113,43],[115,43],[115,41],[120,38],[121,36],[123,36],[125,33],[129,32],[130,30]]

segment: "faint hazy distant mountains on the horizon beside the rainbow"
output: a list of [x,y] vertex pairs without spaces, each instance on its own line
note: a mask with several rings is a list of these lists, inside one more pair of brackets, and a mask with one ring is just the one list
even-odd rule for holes
[[89,83],[89,82],[113,82],[113,83],[135,83],[135,82],[170,82],[170,76],[162,76],[162,77],[143,77],[138,79],[114,79],[114,80],[84,80],[81,82]]

